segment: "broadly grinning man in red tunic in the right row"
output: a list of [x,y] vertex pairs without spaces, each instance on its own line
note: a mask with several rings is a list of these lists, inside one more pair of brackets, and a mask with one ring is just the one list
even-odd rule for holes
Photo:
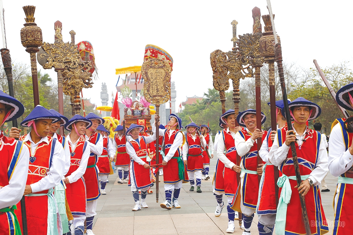
[[[261,117],[261,124],[263,124],[266,117],[263,113],[261,113]],[[245,129],[238,131],[234,140],[237,153],[241,156],[241,174],[232,209],[242,213],[245,228],[243,235],[247,235],[250,234],[250,226],[256,210],[259,192],[256,141],[257,138],[262,138],[263,135],[266,136],[267,131],[262,131],[261,126],[257,128],[256,110],[248,109],[239,113],[237,121]]]

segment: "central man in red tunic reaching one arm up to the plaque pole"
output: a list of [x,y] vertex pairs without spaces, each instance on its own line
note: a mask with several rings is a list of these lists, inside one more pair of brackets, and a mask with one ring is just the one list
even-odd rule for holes
[[[156,139],[156,135],[140,136],[139,132],[142,129],[143,126],[131,124],[126,131],[126,151],[131,158],[129,186],[131,186],[132,196],[135,201],[133,211],[141,210],[141,206],[148,208],[145,199],[148,188],[152,186],[151,170],[147,163],[147,144],[153,142]],[[141,191],[141,203],[138,190]]]

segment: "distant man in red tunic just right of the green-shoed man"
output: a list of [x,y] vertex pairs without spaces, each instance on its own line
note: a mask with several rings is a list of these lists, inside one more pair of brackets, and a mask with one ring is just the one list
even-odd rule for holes
[[204,133],[202,135],[205,138],[206,147],[207,147],[207,150],[204,150],[202,152],[202,163],[203,163],[202,179],[208,180],[210,178],[208,175],[208,173],[210,172],[210,158],[208,157],[206,151],[209,151],[211,158],[213,158],[213,141],[210,135],[211,129],[207,125],[201,125],[200,129],[201,129],[201,133]]

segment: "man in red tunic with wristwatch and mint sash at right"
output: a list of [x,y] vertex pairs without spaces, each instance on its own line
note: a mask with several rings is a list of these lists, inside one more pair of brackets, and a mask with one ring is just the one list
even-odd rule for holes
[[[306,234],[299,193],[305,196],[311,234],[325,234],[328,226],[321,205],[319,185],[328,172],[327,150],[321,141],[321,134],[306,125],[308,120],[320,115],[321,109],[317,104],[299,97],[289,104],[289,110],[294,120],[293,131],[288,132],[287,126],[278,129],[269,153],[270,162],[279,166],[283,173],[277,182],[281,197],[277,207],[276,234]],[[282,115],[285,116],[284,110]],[[295,143],[298,156],[302,180],[299,188],[291,142]]]

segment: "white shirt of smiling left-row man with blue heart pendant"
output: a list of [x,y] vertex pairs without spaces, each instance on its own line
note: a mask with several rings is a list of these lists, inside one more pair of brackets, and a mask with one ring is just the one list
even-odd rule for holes
[[[74,149],[76,148],[76,145],[77,145],[79,140],[80,140],[80,138],[78,138],[75,143],[72,143],[70,135],[66,136],[66,141],[67,141],[66,144],[67,144],[67,146],[68,146],[69,143],[71,144],[71,149],[72,149],[73,152],[75,151]],[[80,160],[80,165],[78,166],[76,171],[72,172],[70,175],[67,176],[67,179],[68,179],[68,181],[70,183],[76,182],[86,172],[89,155],[91,153],[91,150],[90,150],[89,145],[88,145],[88,141],[86,141],[86,142],[87,142],[87,146],[86,146],[85,151],[82,154],[82,157],[81,157],[81,160]],[[70,159],[70,161],[71,161],[71,159]]]

